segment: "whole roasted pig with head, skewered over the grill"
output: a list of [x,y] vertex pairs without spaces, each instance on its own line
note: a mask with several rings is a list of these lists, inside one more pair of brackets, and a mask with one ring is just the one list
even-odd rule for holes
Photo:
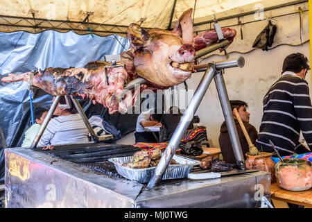
[[[121,54],[121,62],[105,74],[104,61],[89,62],[80,68],[46,68],[34,71],[33,85],[54,95],[79,95],[93,103],[101,103],[110,114],[127,111],[135,105],[140,90],[167,89],[191,77],[196,50],[218,41],[216,31],[207,31],[193,37],[192,9],[185,11],[173,31],[153,28],[144,31],[130,24],[127,31],[131,47]],[[225,39],[233,41],[236,31],[223,28]],[[31,72],[9,74],[3,82],[28,81]],[[147,83],[137,89],[125,90],[126,83],[142,77]]]

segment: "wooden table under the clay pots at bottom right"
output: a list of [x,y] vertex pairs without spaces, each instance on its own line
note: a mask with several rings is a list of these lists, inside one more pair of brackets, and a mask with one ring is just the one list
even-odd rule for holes
[[275,182],[271,184],[271,200],[275,208],[288,208],[287,203],[312,208],[312,188],[305,191],[288,191]]

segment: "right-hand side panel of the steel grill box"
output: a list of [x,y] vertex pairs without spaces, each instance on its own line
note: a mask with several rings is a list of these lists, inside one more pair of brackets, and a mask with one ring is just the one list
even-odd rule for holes
[[258,171],[210,180],[183,180],[143,188],[136,207],[253,208],[270,200],[270,173]]

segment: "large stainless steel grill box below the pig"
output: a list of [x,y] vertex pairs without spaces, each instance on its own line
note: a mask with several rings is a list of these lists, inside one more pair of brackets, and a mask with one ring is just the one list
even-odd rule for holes
[[270,200],[270,173],[263,171],[162,180],[148,189],[114,171],[97,171],[44,151],[6,148],[5,158],[6,207],[261,207],[261,195]]

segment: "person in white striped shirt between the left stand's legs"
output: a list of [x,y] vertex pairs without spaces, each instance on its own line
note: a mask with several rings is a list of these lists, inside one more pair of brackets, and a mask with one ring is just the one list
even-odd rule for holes
[[[60,97],[59,104],[66,104],[64,96]],[[71,105],[69,109],[63,109],[57,105],[53,115],[58,117],[49,121],[38,142],[38,146],[82,144],[88,142],[87,135],[89,130],[74,105]],[[49,149],[53,149],[53,146]]]

